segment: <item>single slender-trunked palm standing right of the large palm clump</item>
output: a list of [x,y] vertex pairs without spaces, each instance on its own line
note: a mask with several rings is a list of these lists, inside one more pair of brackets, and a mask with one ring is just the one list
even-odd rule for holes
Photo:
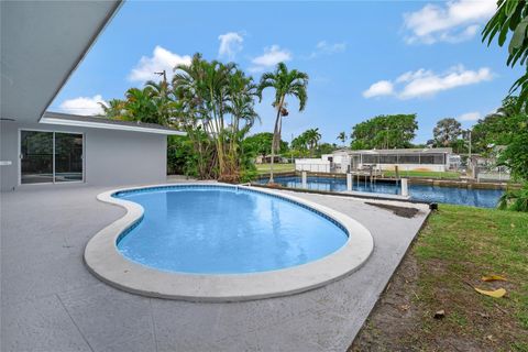
[[257,94],[262,101],[262,91],[266,88],[275,89],[275,100],[273,107],[277,110],[275,118],[275,127],[273,130],[272,142],[272,166],[270,183],[273,184],[273,164],[275,160],[275,151],[278,151],[280,144],[280,131],[283,125],[283,117],[288,116],[286,110],[286,97],[293,96],[299,100],[299,111],[305,110],[306,101],[308,100],[307,87],[308,75],[297,69],[288,70],[284,63],[277,64],[275,72],[265,73],[261,77]]

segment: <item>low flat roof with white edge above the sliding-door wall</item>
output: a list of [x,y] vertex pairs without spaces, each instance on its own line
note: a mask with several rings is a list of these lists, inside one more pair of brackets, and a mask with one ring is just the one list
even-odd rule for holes
[[144,123],[140,121],[111,120],[107,118],[84,117],[84,116],[52,112],[52,111],[46,111],[40,122],[47,123],[47,124],[75,125],[75,127],[92,128],[92,129],[160,133],[160,134],[167,134],[167,135],[186,135],[187,134],[185,132],[177,131],[175,129],[166,128],[155,123]]

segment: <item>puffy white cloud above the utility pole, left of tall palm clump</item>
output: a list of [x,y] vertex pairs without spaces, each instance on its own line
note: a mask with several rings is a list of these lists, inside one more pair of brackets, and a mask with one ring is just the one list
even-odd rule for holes
[[131,81],[147,81],[160,80],[160,76],[154,73],[160,73],[165,70],[167,73],[167,79],[170,79],[173,76],[173,69],[177,65],[189,65],[191,57],[189,55],[178,55],[174,54],[170,51],[156,45],[152,57],[143,56],[138,65],[132,69],[129,75],[129,80]]

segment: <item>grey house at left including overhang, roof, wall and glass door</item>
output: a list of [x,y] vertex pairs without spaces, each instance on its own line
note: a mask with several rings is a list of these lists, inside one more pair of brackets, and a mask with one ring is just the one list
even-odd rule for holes
[[[47,112],[120,1],[1,3],[1,190],[35,184],[166,180],[155,124]],[[33,185],[33,186],[28,186]]]

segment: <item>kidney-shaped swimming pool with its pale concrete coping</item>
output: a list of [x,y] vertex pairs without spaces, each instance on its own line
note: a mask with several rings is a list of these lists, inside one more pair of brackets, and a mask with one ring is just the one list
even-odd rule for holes
[[374,241],[356,220],[277,190],[178,184],[106,191],[121,218],[85,249],[101,280],[150,297],[237,301],[320,287],[359,268]]

